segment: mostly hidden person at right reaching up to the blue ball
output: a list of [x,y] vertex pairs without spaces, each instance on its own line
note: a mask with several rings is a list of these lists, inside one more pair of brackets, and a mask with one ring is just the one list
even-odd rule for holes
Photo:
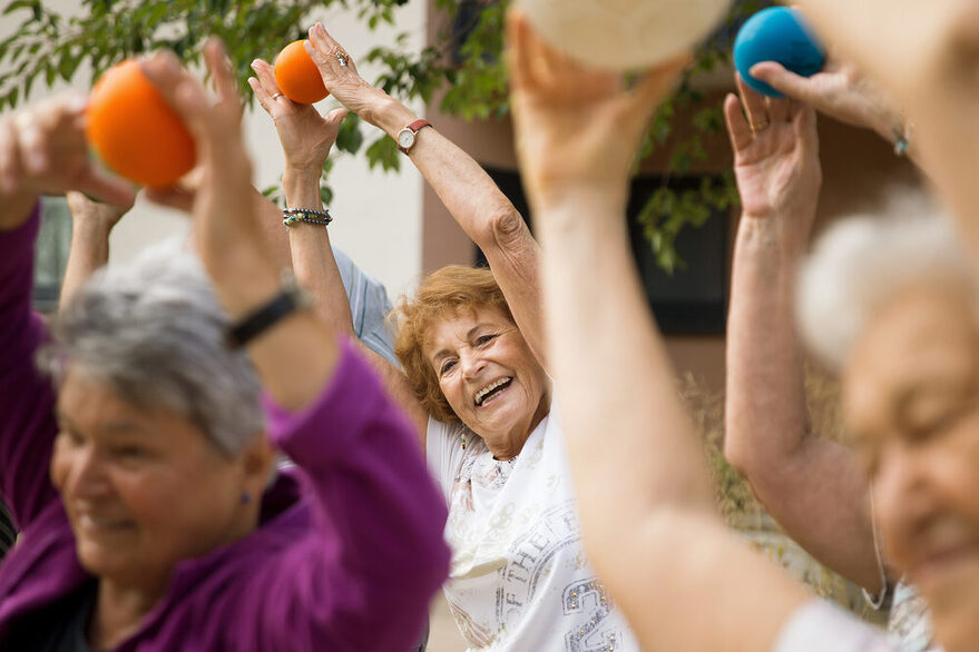
[[[727,100],[728,116],[744,110],[750,125],[763,128],[738,132],[737,122],[728,120],[743,210],[727,325],[725,454],[785,532],[863,586],[871,606],[890,606],[888,629],[902,650],[920,652],[931,640],[924,604],[888,565],[859,455],[818,436],[810,425],[793,310],[815,217],[819,147],[814,120],[806,118],[799,130],[781,117],[809,111],[796,101],[803,98],[898,142],[901,120],[851,65],[831,61],[823,72],[803,78],[766,62],[753,73],[793,99],[763,98],[741,85],[742,102]],[[899,154],[919,151],[895,147]],[[901,206],[894,201],[888,213],[928,210],[905,195],[898,194]]]

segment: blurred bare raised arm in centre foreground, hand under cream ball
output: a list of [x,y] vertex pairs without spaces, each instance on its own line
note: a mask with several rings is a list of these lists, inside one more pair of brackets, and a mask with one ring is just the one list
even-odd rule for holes
[[[648,650],[770,650],[806,600],[713,511],[703,452],[632,263],[630,164],[681,63],[632,91],[510,20],[521,171],[589,559]],[[647,452],[642,454],[642,452]],[[750,605],[750,607],[746,607]]]

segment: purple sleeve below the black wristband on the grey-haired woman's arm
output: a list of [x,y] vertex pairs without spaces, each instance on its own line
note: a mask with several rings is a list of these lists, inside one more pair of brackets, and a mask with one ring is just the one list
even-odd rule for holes
[[446,504],[410,422],[346,342],[314,405],[266,411],[315,514],[313,534],[256,577],[257,648],[404,652],[449,566]]

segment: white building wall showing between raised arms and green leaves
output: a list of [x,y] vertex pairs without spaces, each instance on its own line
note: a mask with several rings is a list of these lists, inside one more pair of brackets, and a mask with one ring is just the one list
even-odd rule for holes
[[[46,3],[61,11],[79,10],[75,0],[48,0]],[[425,41],[425,12],[424,0],[409,0],[397,12],[397,29],[383,27],[375,32],[368,31],[358,21],[355,8],[321,10],[312,17],[310,24],[313,19],[323,20],[359,61],[361,73],[373,81],[378,69],[360,63],[360,59],[373,47],[392,41],[401,31],[412,34],[407,48],[421,49]],[[21,16],[17,12],[0,18],[0,38],[13,32],[22,20]],[[284,38],[283,45],[287,41]],[[272,60],[275,52],[255,52],[255,56]],[[79,69],[71,86],[88,89],[89,75],[89,70]],[[60,85],[56,91],[65,86]],[[36,85],[31,98],[56,91]],[[327,98],[319,108],[326,111],[334,106],[336,102]],[[422,105],[412,108],[424,110]],[[256,187],[276,184],[282,174],[282,151],[272,121],[257,105],[245,116],[245,134],[255,164]],[[381,132],[364,127],[364,134],[365,142],[370,144]],[[343,156],[330,178],[334,190],[334,201],[330,207],[335,218],[330,226],[333,243],[383,281],[392,296],[410,289],[421,271],[422,179],[407,159],[403,162],[407,165],[402,165],[401,172],[385,174],[369,170],[362,156]],[[112,234],[110,261],[127,259],[160,238],[183,236],[188,230],[189,223],[183,214],[140,199]]]

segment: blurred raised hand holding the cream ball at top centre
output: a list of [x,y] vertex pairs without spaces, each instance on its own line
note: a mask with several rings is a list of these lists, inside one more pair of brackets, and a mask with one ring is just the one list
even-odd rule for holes
[[567,184],[624,186],[649,116],[687,56],[649,70],[624,92],[621,73],[557,52],[520,11],[510,12],[507,31],[517,154],[531,200],[560,194]]

